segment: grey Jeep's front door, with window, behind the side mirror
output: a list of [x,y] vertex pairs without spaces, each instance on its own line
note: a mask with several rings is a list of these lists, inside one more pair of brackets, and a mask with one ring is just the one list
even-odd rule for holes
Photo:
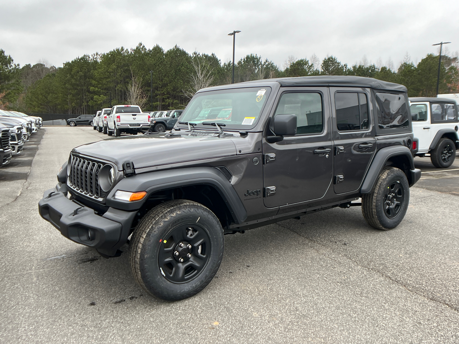
[[[268,208],[322,198],[333,177],[327,88],[285,88],[271,114],[297,115],[297,134],[263,139],[264,205]],[[274,192],[275,191],[275,192]]]

